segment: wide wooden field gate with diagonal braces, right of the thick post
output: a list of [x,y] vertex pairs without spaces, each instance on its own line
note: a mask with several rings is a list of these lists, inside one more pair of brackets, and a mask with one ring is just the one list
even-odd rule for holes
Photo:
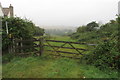
[[[80,57],[75,57],[75,56],[84,55],[84,52],[89,51],[88,49],[85,49],[85,48],[77,48],[77,47],[74,46],[75,44],[86,45],[86,46],[96,46],[96,44],[87,44],[87,43],[71,42],[71,41],[44,40],[44,42],[46,43],[46,44],[44,44],[44,47],[47,46],[47,47],[52,48],[52,50],[45,50],[45,51],[50,51],[50,52],[56,53],[56,54],[51,54],[51,55],[68,57],[68,58],[75,58],[75,59],[80,58]],[[62,44],[59,45],[59,46],[55,46],[51,43],[56,43],[56,44],[57,43],[62,43]],[[66,46],[66,45],[69,45],[69,47]],[[71,49],[71,50],[74,50],[74,51],[69,52],[69,51],[63,51],[63,50],[60,50],[60,49]],[[64,55],[61,55],[60,53],[74,54],[75,56],[64,56]]]

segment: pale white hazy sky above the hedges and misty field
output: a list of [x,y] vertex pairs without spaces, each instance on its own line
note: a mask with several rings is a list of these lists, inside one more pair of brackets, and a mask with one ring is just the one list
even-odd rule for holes
[[14,6],[18,17],[40,26],[80,26],[91,21],[108,22],[118,13],[119,0],[0,0]]

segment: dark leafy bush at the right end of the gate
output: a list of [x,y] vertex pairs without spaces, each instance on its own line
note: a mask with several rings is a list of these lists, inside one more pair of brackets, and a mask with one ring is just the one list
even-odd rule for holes
[[117,46],[117,40],[111,40],[99,44],[90,54],[83,56],[87,64],[95,65],[100,69],[118,69],[120,64],[120,53]]

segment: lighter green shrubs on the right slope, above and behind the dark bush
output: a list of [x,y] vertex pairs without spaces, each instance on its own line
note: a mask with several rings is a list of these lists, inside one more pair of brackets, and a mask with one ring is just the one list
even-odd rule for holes
[[[94,23],[94,25],[93,25]],[[89,26],[93,25],[93,29],[89,30]],[[95,29],[98,24],[95,22],[88,23],[86,26],[80,26],[77,28],[76,33],[70,35],[71,38],[78,41],[85,41],[89,43],[99,43],[104,40],[108,40],[111,35],[118,33],[118,23],[106,23],[100,26],[100,29]]]

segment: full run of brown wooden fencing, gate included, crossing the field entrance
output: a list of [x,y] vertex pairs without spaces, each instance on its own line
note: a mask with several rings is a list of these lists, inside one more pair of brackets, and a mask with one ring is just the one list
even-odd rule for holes
[[[24,45],[24,43],[26,42],[31,42],[33,44],[31,45]],[[51,42],[55,42],[55,43],[62,43],[62,45],[60,46],[55,46],[52,45]],[[46,43],[46,44],[44,44]],[[65,45],[68,44],[71,47],[65,47]],[[39,39],[31,39],[31,40],[15,40],[14,41],[14,45],[12,46],[12,51],[14,53],[23,53],[23,54],[27,54],[24,50],[28,49],[34,53],[37,53],[38,55],[42,55],[43,51],[44,51],[44,47],[51,47],[52,50],[45,50],[45,51],[50,51],[53,53],[57,53],[58,55],[54,55],[54,56],[61,56],[61,57],[68,57],[68,56],[62,56],[60,55],[60,53],[65,53],[65,54],[76,54],[76,55],[83,55],[83,53],[80,52],[81,51],[88,51],[87,49],[83,49],[83,48],[76,48],[75,46],[73,46],[73,44],[80,44],[80,45],[88,45],[88,46],[96,46],[96,44],[87,44],[87,43],[80,43],[80,42],[71,42],[71,41],[58,41],[58,40],[47,40],[44,37],[39,38]],[[37,49],[35,49],[37,48]],[[57,48],[57,49],[56,49]],[[75,50],[77,53],[75,52],[68,52],[68,51],[61,51],[59,50],[60,48],[62,49],[73,49]],[[53,54],[51,54],[53,55]],[[69,57],[69,58],[73,58],[73,57]]]

